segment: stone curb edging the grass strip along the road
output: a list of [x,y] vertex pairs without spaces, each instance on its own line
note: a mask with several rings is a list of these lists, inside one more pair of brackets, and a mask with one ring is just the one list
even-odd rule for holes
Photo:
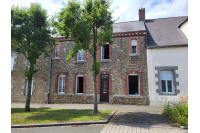
[[49,126],[69,126],[69,125],[90,125],[90,124],[107,124],[116,111],[105,121],[89,121],[89,122],[64,122],[64,123],[45,123],[45,124],[25,124],[25,125],[11,125],[11,128],[28,128],[28,127],[49,127]]

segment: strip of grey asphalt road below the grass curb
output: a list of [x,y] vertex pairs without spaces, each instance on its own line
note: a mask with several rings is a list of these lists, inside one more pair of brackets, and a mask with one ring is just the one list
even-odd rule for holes
[[11,133],[100,133],[105,125],[12,128]]

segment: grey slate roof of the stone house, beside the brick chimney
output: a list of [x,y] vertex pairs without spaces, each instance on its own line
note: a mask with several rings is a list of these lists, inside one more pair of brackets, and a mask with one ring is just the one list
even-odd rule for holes
[[113,33],[128,33],[136,31],[146,31],[143,21],[129,21],[113,24]]

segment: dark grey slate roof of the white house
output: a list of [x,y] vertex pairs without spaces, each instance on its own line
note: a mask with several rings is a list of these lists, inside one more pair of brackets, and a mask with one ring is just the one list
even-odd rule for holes
[[179,28],[188,17],[170,17],[145,21],[147,48],[188,45],[188,39]]

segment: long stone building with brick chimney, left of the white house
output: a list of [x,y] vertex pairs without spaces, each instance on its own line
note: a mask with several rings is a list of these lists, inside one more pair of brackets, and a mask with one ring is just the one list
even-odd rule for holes
[[[113,44],[98,51],[101,61],[97,77],[97,100],[117,104],[149,104],[146,29],[144,9],[139,10],[139,21],[115,23]],[[93,103],[92,56],[79,50],[69,62],[66,57],[74,44],[72,38],[55,38],[52,58],[37,61],[41,68],[34,75],[31,102]],[[25,102],[26,79],[23,70],[27,61],[17,54],[12,70],[12,102]]]

